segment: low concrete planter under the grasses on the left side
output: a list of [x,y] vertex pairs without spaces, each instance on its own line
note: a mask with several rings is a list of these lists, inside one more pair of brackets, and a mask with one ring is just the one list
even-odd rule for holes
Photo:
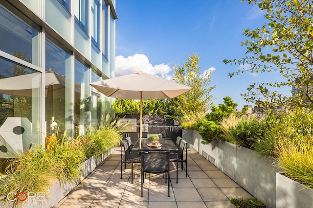
[[[82,178],[86,178],[102,161],[104,161],[107,157],[109,157],[114,148],[111,148],[105,153],[102,153],[98,157],[90,157],[84,162],[84,170],[82,173]],[[35,200],[29,200],[25,204],[22,205],[22,208],[52,208],[59,201],[61,201],[71,190],[73,190],[79,182],[76,182],[76,185],[66,183],[62,184],[59,179],[56,180],[54,185],[51,187],[51,199],[45,201],[45,203],[40,204]]]

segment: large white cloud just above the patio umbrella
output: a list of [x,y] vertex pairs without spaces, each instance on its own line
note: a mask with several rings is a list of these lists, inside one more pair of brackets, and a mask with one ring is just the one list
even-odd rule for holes
[[115,57],[116,76],[132,74],[140,71],[168,78],[168,74],[171,72],[171,67],[164,63],[152,66],[149,62],[149,58],[143,54],[135,54],[134,56],[129,56],[127,58],[123,56]]

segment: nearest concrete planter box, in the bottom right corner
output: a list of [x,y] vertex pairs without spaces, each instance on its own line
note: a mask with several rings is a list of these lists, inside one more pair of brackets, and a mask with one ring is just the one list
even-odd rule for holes
[[276,173],[276,208],[312,208],[313,189]]

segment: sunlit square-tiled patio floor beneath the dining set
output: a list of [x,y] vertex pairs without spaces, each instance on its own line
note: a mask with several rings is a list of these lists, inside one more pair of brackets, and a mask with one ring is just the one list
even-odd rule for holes
[[140,164],[131,166],[120,179],[120,148],[89,174],[54,208],[235,208],[231,198],[252,197],[221,170],[188,149],[188,177],[179,165],[176,184],[176,163],[171,164],[170,197],[162,174],[147,174],[141,197]]

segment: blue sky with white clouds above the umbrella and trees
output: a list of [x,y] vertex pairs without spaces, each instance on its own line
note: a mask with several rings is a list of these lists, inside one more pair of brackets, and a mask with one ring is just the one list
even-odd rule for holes
[[[280,80],[278,73],[245,73],[229,78],[238,65],[223,59],[246,56],[244,29],[261,27],[265,20],[257,6],[240,0],[116,0],[116,76],[140,70],[171,78],[173,65],[182,66],[197,53],[201,72],[212,70],[214,104],[232,97],[242,109],[240,94],[253,82]],[[284,95],[290,95],[284,89]],[[253,105],[253,104],[252,104]]]

